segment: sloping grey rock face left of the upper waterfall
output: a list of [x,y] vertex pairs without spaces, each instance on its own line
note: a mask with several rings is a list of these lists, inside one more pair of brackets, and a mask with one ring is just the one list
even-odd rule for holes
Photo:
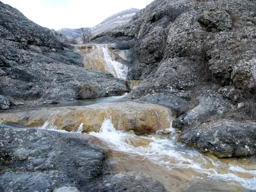
[[128,91],[125,81],[111,74],[85,70],[83,58],[63,36],[11,6],[0,5],[0,94],[10,97],[5,104],[1,101],[1,109],[20,100],[25,104],[74,100],[84,84],[97,88],[96,97]]

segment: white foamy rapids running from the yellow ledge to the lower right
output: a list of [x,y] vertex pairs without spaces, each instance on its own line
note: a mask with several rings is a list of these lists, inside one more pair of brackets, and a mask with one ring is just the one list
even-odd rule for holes
[[[170,130],[173,133],[173,129],[170,128]],[[165,139],[140,137],[153,141],[149,143],[148,147],[134,147],[127,142],[127,136],[130,138],[138,138],[138,136],[129,132],[116,131],[111,123],[111,118],[104,120],[100,132],[90,132],[90,135],[108,142],[109,147],[113,150],[147,157],[169,170],[190,168],[198,173],[204,173],[209,179],[227,180],[227,182],[239,183],[243,188],[256,190],[256,167],[253,170],[252,168],[247,170],[241,166],[223,163],[220,159],[213,160],[209,156],[200,154],[194,148],[176,143],[174,137]],[[239,173],[246,173],[249,176],[239,177]]]

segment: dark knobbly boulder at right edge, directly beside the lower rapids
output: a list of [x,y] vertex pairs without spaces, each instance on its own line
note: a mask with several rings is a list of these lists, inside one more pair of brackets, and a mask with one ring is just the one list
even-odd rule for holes
[[256,154],[256,124],[230,122],[207,130],[184,132],[180,141],[196,145],[203,152],[218,157],[253,156]]

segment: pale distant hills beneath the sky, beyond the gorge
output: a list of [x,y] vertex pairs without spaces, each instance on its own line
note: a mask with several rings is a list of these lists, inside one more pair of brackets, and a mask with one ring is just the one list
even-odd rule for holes
[[[103,20],[97,26],[91,28],[92,35],[97,35],[104,31],[108,31],[109,29],[113,29],[116,26],[120,26],[129,22],[132,19],[133,15],[135,15],[139,10],[136,8],[131,8],[129,10],[124,10],[122,12],[118,12],[114,15],[111,15],[107,19]],[[77,40],[80,41],[81,36],[81,29],[68,29],[63,28],[58,30],[58,32],[62,33],[63,35],[67,36],[68,40]]]

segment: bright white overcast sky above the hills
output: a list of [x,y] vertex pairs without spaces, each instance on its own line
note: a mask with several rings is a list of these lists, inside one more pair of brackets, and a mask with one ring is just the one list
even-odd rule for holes
[[129,8],[142,9],[153,0],[0,0],[49,29],[92,28]]

